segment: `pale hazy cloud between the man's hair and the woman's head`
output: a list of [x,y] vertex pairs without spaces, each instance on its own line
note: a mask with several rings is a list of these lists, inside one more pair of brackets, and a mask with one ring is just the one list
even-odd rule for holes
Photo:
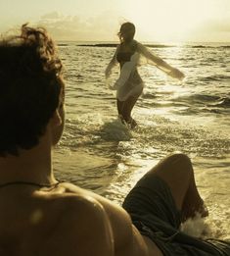
[[[122,19],[120,19],[122,20]],[[57,40],[115,40],[118,29],[117,17],[109,12],[83,20],[78,16],[64,16],[57,12],[40,18],[38,24],[45,26]]]

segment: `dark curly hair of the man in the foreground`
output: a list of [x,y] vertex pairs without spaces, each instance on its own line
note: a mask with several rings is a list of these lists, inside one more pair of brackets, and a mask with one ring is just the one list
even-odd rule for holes
[[0,40],[0,156],[37,145],[64,93],[62,62],[45,28]]

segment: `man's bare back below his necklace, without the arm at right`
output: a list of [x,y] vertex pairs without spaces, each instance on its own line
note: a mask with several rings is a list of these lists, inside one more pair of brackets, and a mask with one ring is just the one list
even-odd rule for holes
[[[7,199],[3,192],[0,197],[0,248],[5,255],[33,255],[34,250],[43,256],[114,255],[107,214],[91,196],[62,186],[13,190],[4,192]],[[13,237],[18,247],[11,246]]]

